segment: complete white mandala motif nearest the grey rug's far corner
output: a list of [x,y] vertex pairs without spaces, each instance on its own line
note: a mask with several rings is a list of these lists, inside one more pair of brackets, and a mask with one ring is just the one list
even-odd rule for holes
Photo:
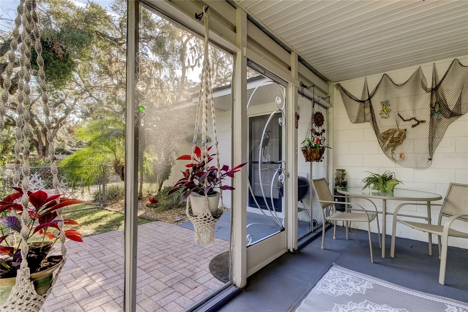
[[369,280],[332,269],[315,285],[314,292],[335,297],[343,294],[351,296],[356,293],[366,294],[366,289],[373,288],[372,285]]

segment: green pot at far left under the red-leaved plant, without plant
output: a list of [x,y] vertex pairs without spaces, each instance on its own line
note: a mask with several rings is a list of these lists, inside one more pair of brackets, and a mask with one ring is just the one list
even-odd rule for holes
[[[51,287],[54,271],[59,268],[62,262],[63,259],[53,267],[49,267],[45,270],[30,275],[30,279],[34,283],[34,288],[36,289],[38,295],[44,295],[47,290],[49,290]],[[16,276],[0,279],[0,305],[3,305],[5,301],[7,301],[11,289],[15,285],[15,282]]]

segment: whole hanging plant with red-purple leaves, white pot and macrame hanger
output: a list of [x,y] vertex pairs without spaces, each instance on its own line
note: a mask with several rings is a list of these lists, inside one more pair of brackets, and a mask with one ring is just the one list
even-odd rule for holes
[[[226,210],[223,203],[223,190],[234,190],[234,187],[224,185],[227,178],[234,178],[234,174],[240,171],[246,163],[233,168],[228,165],[221,166],[219,163],[218,135],[216,132],[216,116],[213,101],[212,76],[209,59],[208,26],[210,13],[208,7],[203,7],[200,15],[205,16],[205,40],[203,43],[203,68],[198,92],[197,113],[195,129],[192,142],[192,154],[183,155],[176,160],[190,160],[183,171],[183,178],[177,181],[169,195],[182,190],[181,202],[186,201],[185,213],[195,230],[195,242],[199,245],[210,245],[215,243],[214,224],[219,220]],[[208,137],[208,111],[211,111],[214,142],[209,146]],[[197,146],[198,126],[200,113],[202,117],[201,148]],[[214,154],[210,150],[214,146]],[[216,166],[210,164],[216,159]]]

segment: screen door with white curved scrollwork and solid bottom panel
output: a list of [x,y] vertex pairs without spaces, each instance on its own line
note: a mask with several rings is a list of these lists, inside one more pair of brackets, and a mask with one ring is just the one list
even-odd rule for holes
[[247,275],[285,251],[285,87],[249,69]]

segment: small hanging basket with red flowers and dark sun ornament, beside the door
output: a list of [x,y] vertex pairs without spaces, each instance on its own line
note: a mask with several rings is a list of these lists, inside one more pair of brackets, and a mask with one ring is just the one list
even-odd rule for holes
[[[315,97],[315,86],[312,85],[311,87],[314,88],[313,97]],[[310,89],[311,87],[306,86],[305,88]],[[325,117],[320,110],[320,106],[315,110],[315,100],[312,99],[309,126],[307,127],[306,137],[304,141],[302,141],[302,147],[300,148],[306,162],[322,162],[325,149],[331,149],[328,144],[325,144],[324,124]]]

